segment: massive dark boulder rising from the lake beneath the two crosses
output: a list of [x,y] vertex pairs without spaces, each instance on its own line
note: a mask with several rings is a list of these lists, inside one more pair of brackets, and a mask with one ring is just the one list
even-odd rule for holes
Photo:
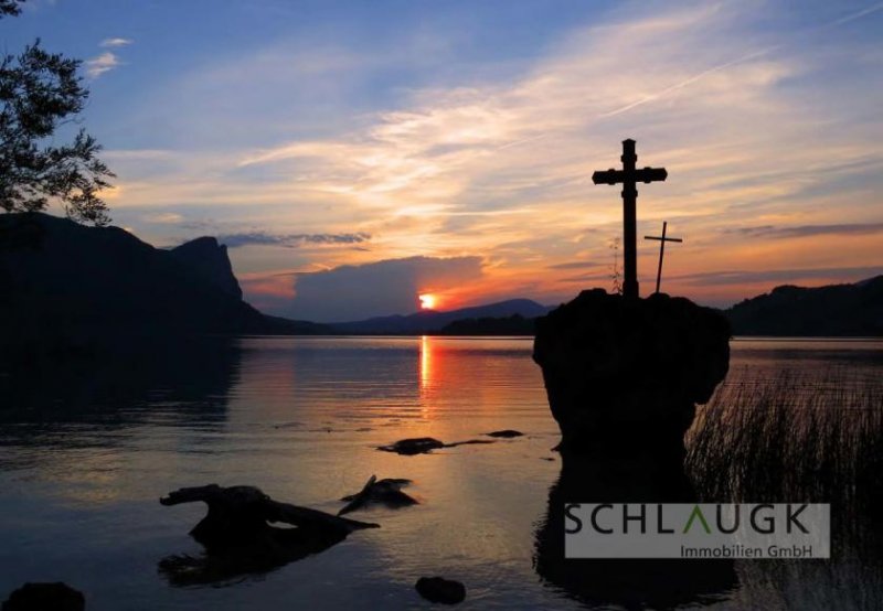
[[533,358],[562,453],[680,464],[695,405],[727,373],[728,341],[720,313],[667,294],[583,291],[539,319]]

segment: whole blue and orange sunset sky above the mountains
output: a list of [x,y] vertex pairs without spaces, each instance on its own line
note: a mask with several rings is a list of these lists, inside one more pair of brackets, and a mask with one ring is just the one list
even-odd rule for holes
[[0,33],[84,60],[114,224],[217,236],[270,313],[610,289],[625,138],[669,172],[667,292],[883,272],[883,2],[31,0]]

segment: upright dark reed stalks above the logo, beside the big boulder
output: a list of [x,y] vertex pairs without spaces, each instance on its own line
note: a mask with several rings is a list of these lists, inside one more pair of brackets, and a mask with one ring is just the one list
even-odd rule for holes
[[732,372],[698,408],[687,447],[709,500],[873,504],[883,495],[883,383],[845,367]]

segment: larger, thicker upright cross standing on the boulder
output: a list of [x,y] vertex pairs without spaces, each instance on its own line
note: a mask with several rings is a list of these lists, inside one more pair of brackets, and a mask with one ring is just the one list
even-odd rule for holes
[[637,170],[635,164],[638,156],[635,154],[635,140],[629,138],[623,140],[623,169],[598,171],[592,174],[592,182],[595,184],[617,184],[623,183],[623,246],[624,246],[624,267],[625,282],[623,283],[623,294],[627,298],[638,298],[638,248],[636,244],[637,233],[635,219],[635,207],[638,200],[638,182],[651,183],[666,180],[669,173],[664,168],[643,168]]

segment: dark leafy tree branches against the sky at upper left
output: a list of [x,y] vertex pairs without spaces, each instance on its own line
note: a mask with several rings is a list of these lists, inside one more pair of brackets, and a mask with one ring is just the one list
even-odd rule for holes
[[[0,17],[18,14],[17,4],[0,0]],[[60,127],[77,122],[88,98],[79,64],[47,53],[40,40],[0,62],[0,207],[7,212],[41,211],[57,200],[75,221],[109,221],[98,193],[114,174],[97,157],[102,147],[82,128],[70,143],[52,140]]]

